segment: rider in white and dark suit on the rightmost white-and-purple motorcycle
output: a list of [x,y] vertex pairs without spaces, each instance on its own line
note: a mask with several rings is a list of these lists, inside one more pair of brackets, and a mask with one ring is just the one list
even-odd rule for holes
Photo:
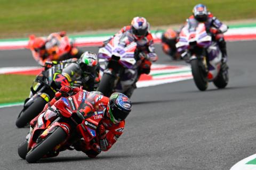
[[[194,25],[197,22],[204,22],[206,31],[212,33],[212,37],[217,41],[221,54],[222,54],[222,66],[227,62],[227,47],[223,33],[228,30],[228,26],[218,20],[213,14],[207,11],[207,8],[203,4],[197,4],[193,8],[193,15],[187,19],[187,24]],[[188,27],[189,28],[189,27]]]

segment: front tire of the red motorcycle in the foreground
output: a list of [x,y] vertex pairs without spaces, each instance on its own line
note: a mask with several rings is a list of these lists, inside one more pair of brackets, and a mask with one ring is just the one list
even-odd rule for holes
[[63,142],[67,137],[66,132],[58,127],[54,132],[49,134],[42,142],[38,143],[33,150],[29,151],[26,160],[28,163],[36,163],[47,152],[51,151],[55,146]]

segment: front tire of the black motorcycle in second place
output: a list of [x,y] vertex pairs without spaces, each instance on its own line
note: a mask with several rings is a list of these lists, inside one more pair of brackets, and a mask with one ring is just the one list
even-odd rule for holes
[[16,120],[16,126],[18,128],[23,128],[26,126],[33,118],[35,118],[44,108],[47,102],[40,96],[38,96],[34,103],[32,103],[23,113],[21,113],[20,117]]

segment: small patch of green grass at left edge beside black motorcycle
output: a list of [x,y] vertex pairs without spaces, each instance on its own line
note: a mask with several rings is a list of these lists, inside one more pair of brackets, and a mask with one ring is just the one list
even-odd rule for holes
[[24,101],[30,91],[35,75],[0,75],[0,104]]

